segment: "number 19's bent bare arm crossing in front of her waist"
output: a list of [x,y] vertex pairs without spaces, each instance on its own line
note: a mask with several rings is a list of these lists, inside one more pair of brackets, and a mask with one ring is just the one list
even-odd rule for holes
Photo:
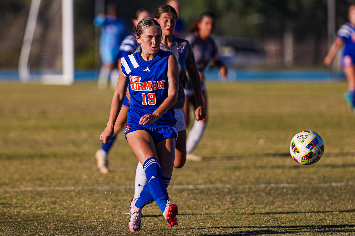
[[179,90],[179,66],[176,57],[170,54],[168,57],[168,97],[165,98],[163,103],[155,110],[152,114],[146,114],[141,117],[139,123],[140,125],[150,125],[151,123],[158,120],[166,111],[172,108],[178,101],[178,90]]

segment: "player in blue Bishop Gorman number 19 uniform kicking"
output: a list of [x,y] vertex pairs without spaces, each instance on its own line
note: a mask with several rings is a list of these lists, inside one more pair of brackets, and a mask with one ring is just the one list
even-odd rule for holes
[[178,63],[171,52],[159,49],[162,29],[154,19],[142,19],[137,25],[135,38],[141,51],[121,58],[109,121],[100,135],[104,143],[112,137],[128,86],[131,105],[125,137],[143,165],[148,181],[140,196],[130,202],[131,232],[140,230],[141,209],[154,200],[168,225],[178,224],[178,207],[170,203],[166,191],[173,172],[175,139],[178,136],[173,108],[178,99]]

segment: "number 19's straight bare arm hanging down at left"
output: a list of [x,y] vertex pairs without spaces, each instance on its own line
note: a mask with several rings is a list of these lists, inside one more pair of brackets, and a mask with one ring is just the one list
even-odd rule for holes
[[120,75],[118,77],[117,86],[115,92],[113,94],[112,102],[111,102],[111,110],[109,121],[107,122],[107,127],[100,135],[100,139],[107,144],[110,138],[114,134],[114,125],[117,119],[117,116],[121,110],[123,100],[126,96],[126,90],[128,86],[128,79],[120,70]]

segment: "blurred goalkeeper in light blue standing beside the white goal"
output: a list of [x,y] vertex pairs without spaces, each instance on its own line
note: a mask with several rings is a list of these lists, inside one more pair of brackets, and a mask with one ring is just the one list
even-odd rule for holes
[[94,25],[101,27],[100,36],[100,56],[102,67],[98,78],[98,86],[104,89],[107,86],[109,77],[118,77],[118,54],[120,44],[127,35],[127,23],[122,17],[117,17],[117,7],[115,3],[107,5],[107,13],[100,13],[94,19]]

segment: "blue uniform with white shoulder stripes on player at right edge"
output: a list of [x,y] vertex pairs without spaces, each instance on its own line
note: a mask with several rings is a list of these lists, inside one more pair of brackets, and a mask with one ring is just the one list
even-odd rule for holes
[[350,22],[344,23],[338,30],[338,37],[344,41],[342,66],[348,67],[355,64],[355,26]]

